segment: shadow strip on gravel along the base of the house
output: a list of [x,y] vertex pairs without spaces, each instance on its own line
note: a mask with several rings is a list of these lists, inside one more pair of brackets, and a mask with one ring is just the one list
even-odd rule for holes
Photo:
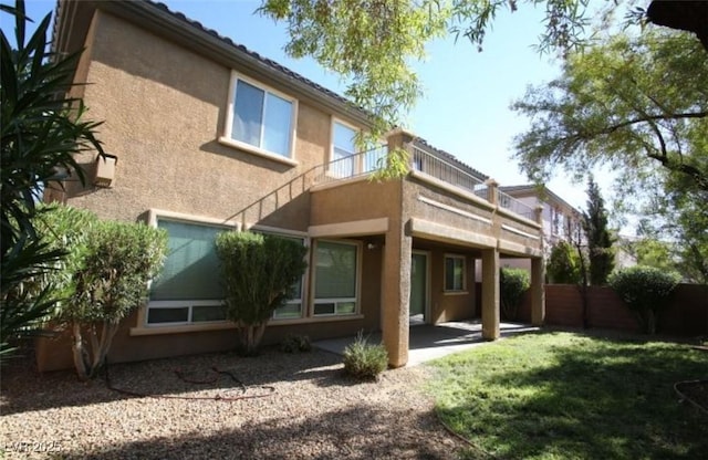
[[87,383],[79,381],[71,370],[39,374],[31,363],[12,363],[2,369],[0,411],[11,415],[148,396],[238,398],[299,380],[322,387],[356,385],[343,374],[341,362],[341,356],[316,349],[284,354],[264,348],[254,357],[217,353],[110,365],[108,380],[104,373]]

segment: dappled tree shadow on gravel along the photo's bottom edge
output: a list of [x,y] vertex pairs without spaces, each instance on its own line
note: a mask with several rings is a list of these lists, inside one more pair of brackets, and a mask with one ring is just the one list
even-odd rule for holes
[[[406,429],[398,429],[402,424]],[[237,430],[108,446],[63,459],[450,459],[459,446],[433,412],[356,405],[317,418],[279,418]]]

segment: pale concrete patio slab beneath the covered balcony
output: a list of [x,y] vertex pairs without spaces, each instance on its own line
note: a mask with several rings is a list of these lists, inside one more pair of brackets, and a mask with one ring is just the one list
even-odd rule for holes
[[[500,324],[501,337],[538,330],[539,327],[528,324]],[[372,333],[366,337],[372,344],[382,341],[381,332]],[[332,338],[315,342],[313,346],[341,355],[344,353],[344,348],[355,339],[356,337]],[[482,324],[479,320],[414,325],[410,326],[407,366],[416,366],[485,343],[488,341],[482,338]]]

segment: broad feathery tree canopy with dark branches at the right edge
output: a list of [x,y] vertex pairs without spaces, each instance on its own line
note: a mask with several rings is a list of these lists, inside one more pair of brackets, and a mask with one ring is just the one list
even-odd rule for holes
[[706,81],[707,54],[688,34],[607,39],[570,55],[561,77],[513,104],[532,119],[516,157],[538,181],[555,167],[582,175],[608,164],[632,188],[660,166],[708,190]]

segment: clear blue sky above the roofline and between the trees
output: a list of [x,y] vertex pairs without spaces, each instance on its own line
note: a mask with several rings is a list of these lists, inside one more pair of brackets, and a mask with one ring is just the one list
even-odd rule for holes
[[[285,56],[284,28],[253,14],[260,0],[165,3],[333,91],[344,91],[337,75],[323,71],[312,60]],[[28,14],[38,21],[54,6],[53,0],[29,0]],[[10,25],[7,20],[3,14],[3,29]],[[527,4],[514,13],[503,11],[494,19],[481,53],[462,38],[458,43],[451,38],[430,43],[427,61],[416,64],[425,96],[409,114],[407,127],[501,185],[527,184],[510,156],[513,136],[529,122],[511,112],[509,105],[524,94],[528,85],[542,84],[559,73],[551,56],[540,55],[532,48],[542,32],[541,20],[542,11]],[[585,184],[572,184],[563,171],[556,171],[549,187],[571,205],[585,207]]]

